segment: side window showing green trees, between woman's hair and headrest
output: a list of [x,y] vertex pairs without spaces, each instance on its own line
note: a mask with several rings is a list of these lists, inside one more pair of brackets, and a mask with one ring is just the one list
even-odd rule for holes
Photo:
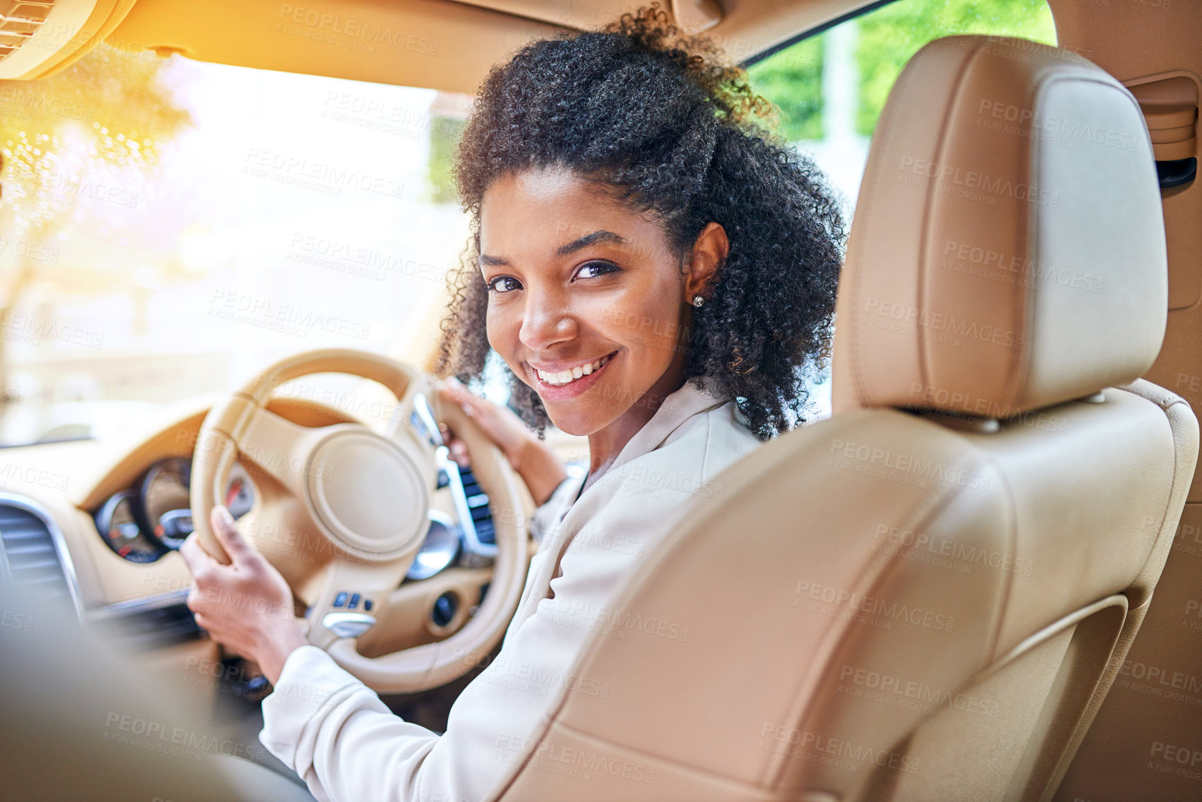
[[[802,38],[749,67],[752,87],[780,109],[780,129],[813,158],[850,221],[868,142],[893,83],[927,42],[957,34],[1055,44],[1046,0],[897,0]],[[829,376],[814,388],[831,409]]]

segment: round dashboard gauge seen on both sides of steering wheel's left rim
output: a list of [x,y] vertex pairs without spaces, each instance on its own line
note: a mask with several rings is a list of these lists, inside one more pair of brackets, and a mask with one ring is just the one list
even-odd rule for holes
[[[151,465],[142,480],[147,528],[167,548],[179,548],[192,534],[191,476],[191,461],[173,457]],[[246,470],[234,463],[222,503],[238,518],[250,511],[254,500],[254,487]]]

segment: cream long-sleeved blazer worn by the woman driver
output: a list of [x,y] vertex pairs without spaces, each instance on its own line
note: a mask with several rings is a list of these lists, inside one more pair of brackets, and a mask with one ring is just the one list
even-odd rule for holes
[[394,715],[326,652],[304,646],[263,700],[260,741],[323,802],[495,800],[535,749],[557,691],[608,691],[573,673],[591,636],[656,626],[688,637],[667,622],[611,616],[611,592],[691,503],[720,495],[714,477],[758,445],[733,399],[690,379],[579,498],[584,477],[570,476],[535,511],[541,548],[522,600],[501,650],[452,706],[446,733]]

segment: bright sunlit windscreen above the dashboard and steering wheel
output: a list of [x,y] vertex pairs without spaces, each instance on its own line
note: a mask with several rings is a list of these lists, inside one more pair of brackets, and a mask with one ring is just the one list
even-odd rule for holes
[[[468,100],[103,47],[0,84],[0,444],[114,432],[302,350],[424,357],[468,234]],[[282,392],[386,410],[362,384]]]

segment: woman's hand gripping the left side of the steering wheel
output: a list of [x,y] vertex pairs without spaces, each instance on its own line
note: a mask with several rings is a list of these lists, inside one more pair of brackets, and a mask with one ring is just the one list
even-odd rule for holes
[[188,608],[214,641],[257,663],[274,685],[287,657],[308,642],[293,613],[292,590],[243,540],[225,506],[213,507],[209,522],[231,562],[222,565],[195,533],[189,535],[179,549],[192,572]]

